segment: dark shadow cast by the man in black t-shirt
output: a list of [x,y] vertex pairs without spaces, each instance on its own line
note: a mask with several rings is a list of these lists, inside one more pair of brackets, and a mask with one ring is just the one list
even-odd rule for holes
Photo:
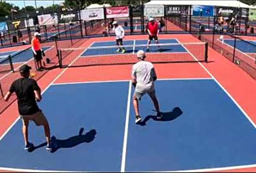
[[[72,148],[82,143],[90,143],[94,140],[96,133],[96,130],[91,130],[87,132],[86,134],[82,134],[84,131],[84,128],[81,128],[79,131],[79,134],[73,137],[69,137],[68,139],[60,140],[57,139],[55,136],[51,137],[51,142],[53,144],[53,149],[50,151],[51,153],[55,153],[60,148]],[[32,147],[29,152],[33,152],[34,150],[46,146],[46,142],[43,144],[40,144],[39,146]]]

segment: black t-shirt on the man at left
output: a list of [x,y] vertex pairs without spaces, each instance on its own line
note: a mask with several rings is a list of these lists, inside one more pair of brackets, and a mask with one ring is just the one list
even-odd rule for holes
[[20,115],[31,115],[39,111],[34,93],[39,89],[36,81],[32,78],[19,78],[12,83],[9,91],[10,93],[15,92],[17,95]]

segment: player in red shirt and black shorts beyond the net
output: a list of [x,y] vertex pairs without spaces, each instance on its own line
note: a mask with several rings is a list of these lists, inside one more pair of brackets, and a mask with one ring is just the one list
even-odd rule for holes
[[[148,46],[147,51],[149,51],[149,44],[151,40],[154,39],[154,41],[158,44],[158,34],[159,34],[159,28],[158,28],[158,22],[155,22],[153,18],[150,18],[148,23]],[[158,46],[159,51],[161,51],[160,46]]]

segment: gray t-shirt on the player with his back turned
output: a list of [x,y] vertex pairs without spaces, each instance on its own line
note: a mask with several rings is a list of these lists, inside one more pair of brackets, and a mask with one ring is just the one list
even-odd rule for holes
[[151,62],[140,61],[132,66],[132,78],[136,79],[135,90],[138,92],[149,92],[154,90],[154,77],[157,77],[154,65]]

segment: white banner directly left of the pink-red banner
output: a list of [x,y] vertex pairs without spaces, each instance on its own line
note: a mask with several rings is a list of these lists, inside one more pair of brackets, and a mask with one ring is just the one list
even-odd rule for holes
[[81,19],[82,20],[102,20],[104,19],[104,10],[103,8],[92,8],[87,10],[81,10]]

